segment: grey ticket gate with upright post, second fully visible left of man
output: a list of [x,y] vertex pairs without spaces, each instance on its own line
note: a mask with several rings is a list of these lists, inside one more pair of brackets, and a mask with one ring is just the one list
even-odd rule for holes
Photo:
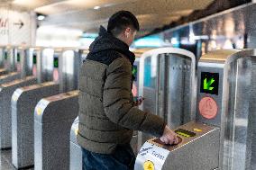
[[32,72],[36,74],[37,84],[17,88],[12,96],[12,163],[16,168],[33,166],[33,111],[36,103],[42,97],[59,94],[61,49],[32,48],[27,54],[32,57]]

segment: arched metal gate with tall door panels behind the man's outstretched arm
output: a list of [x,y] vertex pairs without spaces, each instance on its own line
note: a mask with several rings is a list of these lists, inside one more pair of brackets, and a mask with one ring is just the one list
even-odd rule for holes
[[[140,60],[141,109],[152,112],[172,128],[191,121],[195,115],[196,57],[185,49],[161,48],[145,52]],[[193,94],[194,93],[194,94]],[[138,149],[151,136],[139,132]]]

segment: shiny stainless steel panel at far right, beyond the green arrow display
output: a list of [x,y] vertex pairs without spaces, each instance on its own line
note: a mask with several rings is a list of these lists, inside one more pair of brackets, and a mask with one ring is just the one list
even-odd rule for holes
[[239,58],[229,67],[229,99],[224,131],[224,168],[255,169],[255,57]]

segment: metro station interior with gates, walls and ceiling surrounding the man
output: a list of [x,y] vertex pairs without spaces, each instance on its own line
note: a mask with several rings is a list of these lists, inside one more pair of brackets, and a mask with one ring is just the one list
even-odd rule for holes
[[120,10],[138,108],[178,135],[134,131],[134,170],[256,170],[255,0],[0,0],[0,170],[83,169],[80,67]]

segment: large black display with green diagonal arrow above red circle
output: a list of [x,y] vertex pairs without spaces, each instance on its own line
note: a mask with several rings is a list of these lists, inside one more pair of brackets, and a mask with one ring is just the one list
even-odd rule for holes
[[219,91],[219,74],[218,73],[201,73],[200,92],[206,94],[218,95]]

